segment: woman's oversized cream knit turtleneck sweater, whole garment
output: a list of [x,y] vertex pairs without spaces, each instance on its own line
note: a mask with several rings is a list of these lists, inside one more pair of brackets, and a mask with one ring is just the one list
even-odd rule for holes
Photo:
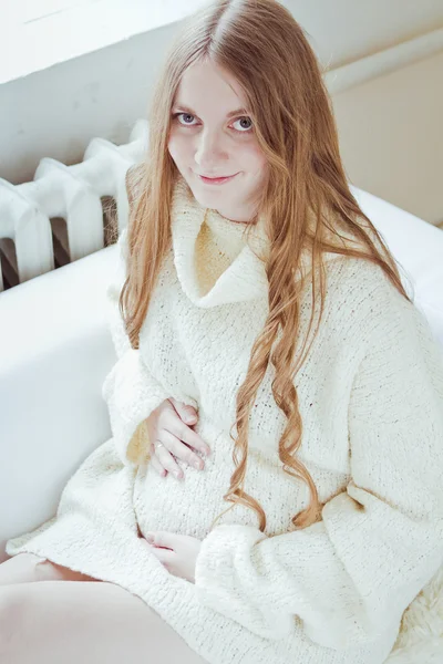
[[[117,362],[103,396],[113,437],[70,479],[58,515],[7,551],[123,585],[210,664],[382,663],[403,611],[443,561],[442,352],[380,268],[329,256],[324,318],[296,376],[298,456],[324,504],[322,520],[291,526],[309,492],[278,458],[286,418],[268,367],[250,416],[244,487],[264,508],[266,531],[236,506],[209,532],[229,505],[236,394],[268,311],[264,263],[243,230],[177,181],[173,247],[140,350],[117,310],[123,231],[107,291]],[[255,249],[266,249],[261,231],[259,224]],[[302,332],[310,312],[306,289]],[[178,460],[184,481],[131,460],[146,442],[143,421],[172,396],[198,408],[195,429],[212,448],[203,471]],[[202,539],[195,584],[169,574],[137,527]]]

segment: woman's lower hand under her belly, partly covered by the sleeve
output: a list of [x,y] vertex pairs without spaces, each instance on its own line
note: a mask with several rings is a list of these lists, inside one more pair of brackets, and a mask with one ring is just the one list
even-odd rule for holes
[[142,539],[171,574],[195,583],[195,566],[202,547],[199,539],[163,530],[146,532]]

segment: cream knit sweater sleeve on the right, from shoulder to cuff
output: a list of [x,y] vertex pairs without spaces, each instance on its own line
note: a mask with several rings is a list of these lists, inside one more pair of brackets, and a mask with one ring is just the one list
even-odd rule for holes
[[284,637],[297,620],[322,646],[364,645],[398,629],[443,562],[443,354],[400,298],[362,326],[346,490],[308,528],[268,537],[222,525],[203,540],[199,601],[261,636]]

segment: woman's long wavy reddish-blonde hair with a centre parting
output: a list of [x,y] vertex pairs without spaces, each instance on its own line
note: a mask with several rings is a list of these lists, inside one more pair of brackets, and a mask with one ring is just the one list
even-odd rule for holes
[[[265,530],[265,511],[243,486],[249,415],[271,362],[272,395],[287,417],[278,446],[279,458],[284,470],[305,481],[310,490],[310,504],[291,521],[297,528],[306,528],[319,520],[322,505],[310,474],[296,457],[301,445],[302,421],[293,377],[322,318],[324,252],[372,261],[406,300],[411,299],[392,255],[350,191],[323,72],[302,28],[274,0],[216,0],[192,14],[173,42],[151,102],[146,158],[126,175],[128,253],[120,311],[131,345],[138,347],[140,329],[172,242],[171,201],[177,168],[167,144],[175,93],[186,68],[205,59],[234,74],[240,84],[257,141],[269,165],[268,183],[259,204],[270,242],[266,261],[269,315],[255,341],[245,382],[237,393],[237,439],[230,434],[236,469],[224,500],[233,504],[228,509],[237,502],[251,508],[258,515],[260,530]],[[320,317],[307,347],[311,315],[297,359],[300,295],[308,276],[301,269],[303,247],[309,247],[311,258],[312,312],[319,273]]]

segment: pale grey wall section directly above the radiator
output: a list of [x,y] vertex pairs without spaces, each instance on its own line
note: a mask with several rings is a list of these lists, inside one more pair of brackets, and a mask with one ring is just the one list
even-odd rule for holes
[[75,164],[91,138],[125,143],[146,117],[173,23],[0,85],[0,177],[28,181],[39,160]]

